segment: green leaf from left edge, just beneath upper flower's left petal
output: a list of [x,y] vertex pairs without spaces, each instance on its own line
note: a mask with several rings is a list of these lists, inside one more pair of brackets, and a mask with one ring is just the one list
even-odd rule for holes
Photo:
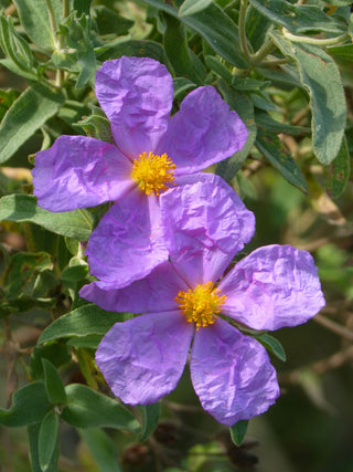
[[0,199],[0,220],[29,221],[57,234],[87,241],[92,227],[79,210],[52,213],[36,206],[32,195],[9,195]]

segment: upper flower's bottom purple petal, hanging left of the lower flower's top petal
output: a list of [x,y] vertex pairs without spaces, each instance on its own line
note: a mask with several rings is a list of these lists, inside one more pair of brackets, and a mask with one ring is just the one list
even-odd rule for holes
[[120,198],[89,237],[90,273],[116,289],[148,275],[168,260],[159,224],[157,197],[136,189]]

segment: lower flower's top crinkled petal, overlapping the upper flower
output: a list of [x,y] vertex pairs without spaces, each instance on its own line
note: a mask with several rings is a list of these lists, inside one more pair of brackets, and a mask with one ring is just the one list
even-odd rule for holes
[[254,214],[214,174],[181,177],[178,185],[160,197],[161,229],[171,261],[190,283],[216,281],[252,239]]

